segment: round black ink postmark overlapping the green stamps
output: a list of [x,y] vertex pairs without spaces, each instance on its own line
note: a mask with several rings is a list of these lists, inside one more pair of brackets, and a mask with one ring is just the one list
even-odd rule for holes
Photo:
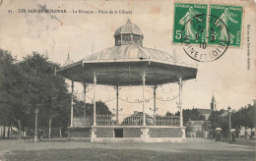
[[186,54],[198,62],[221,58],[229,44],[229,32],[224,22],[214,15],[196,15],[181,31],[181,44]]

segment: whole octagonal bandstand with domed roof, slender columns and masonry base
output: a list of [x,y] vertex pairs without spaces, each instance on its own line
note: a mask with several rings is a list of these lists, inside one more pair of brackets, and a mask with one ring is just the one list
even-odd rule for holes
[[[114,33],[114,47],[67,65],[57,71],[72,81],[71,124],[68,137],[92,142],[168,142],[184,141],[182,123],[182,83],[196,79],[196,66],[177,62],[160,50],[143,47],[144,35],[140,27],[128,21]],[[74,81],[94,86],[94,115],[73,117]],[[179,85],[180,116],[160,118],[156,115],[156,90],[160,84],[177,82]],[[96,115],[96,84],[112,85],[116,89],[116,120],[111,115]],[[118,122],[119,86],[141,85],[143,111]],[[154,87],[154,117],[145,113],[145,86]],[[86,92],[86,89],[84,90]],[[84,93],[86,95],[86,93]],[[85,96],[86,99],[86,96]]]

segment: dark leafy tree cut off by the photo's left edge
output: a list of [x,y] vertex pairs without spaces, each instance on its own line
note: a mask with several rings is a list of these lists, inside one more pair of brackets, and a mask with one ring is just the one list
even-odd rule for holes
[[0,49],[0,121],[4,127],[8,124],[9,129],[12,125],[18,127],[19,137],[21,120],[24,120],[30,107],[30,94],[27,92],[30,86],[26,80],[26,74],[11,53]]

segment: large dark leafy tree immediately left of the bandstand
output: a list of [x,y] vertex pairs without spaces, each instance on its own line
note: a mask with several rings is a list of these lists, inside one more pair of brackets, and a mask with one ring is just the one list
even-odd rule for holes
[[[35,108],[39,108],[38,123],[40,127],[47,127],[53,123],[54,127],[67,127],[70,120],[70,100],[68,85],[60,76],[54,76],[58,64],[48,61],[44,56],[32,52],[19,63],[24,73],[27,74],[30,84],[30,109],[28,116],[34,118]],[[24,122],[26,123],[26,122]],[[33,127],[33,120],[25,126]]]

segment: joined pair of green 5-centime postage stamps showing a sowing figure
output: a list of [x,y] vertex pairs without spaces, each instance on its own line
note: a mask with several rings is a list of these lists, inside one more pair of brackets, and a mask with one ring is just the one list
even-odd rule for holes
[[[173,43],[182,43],[185,38],[189,44],[219,45],[228,41],[228,46],[240,47],[242,16],[241,6],[175,3]],[[215,22],[211,22],[213,18]]]

